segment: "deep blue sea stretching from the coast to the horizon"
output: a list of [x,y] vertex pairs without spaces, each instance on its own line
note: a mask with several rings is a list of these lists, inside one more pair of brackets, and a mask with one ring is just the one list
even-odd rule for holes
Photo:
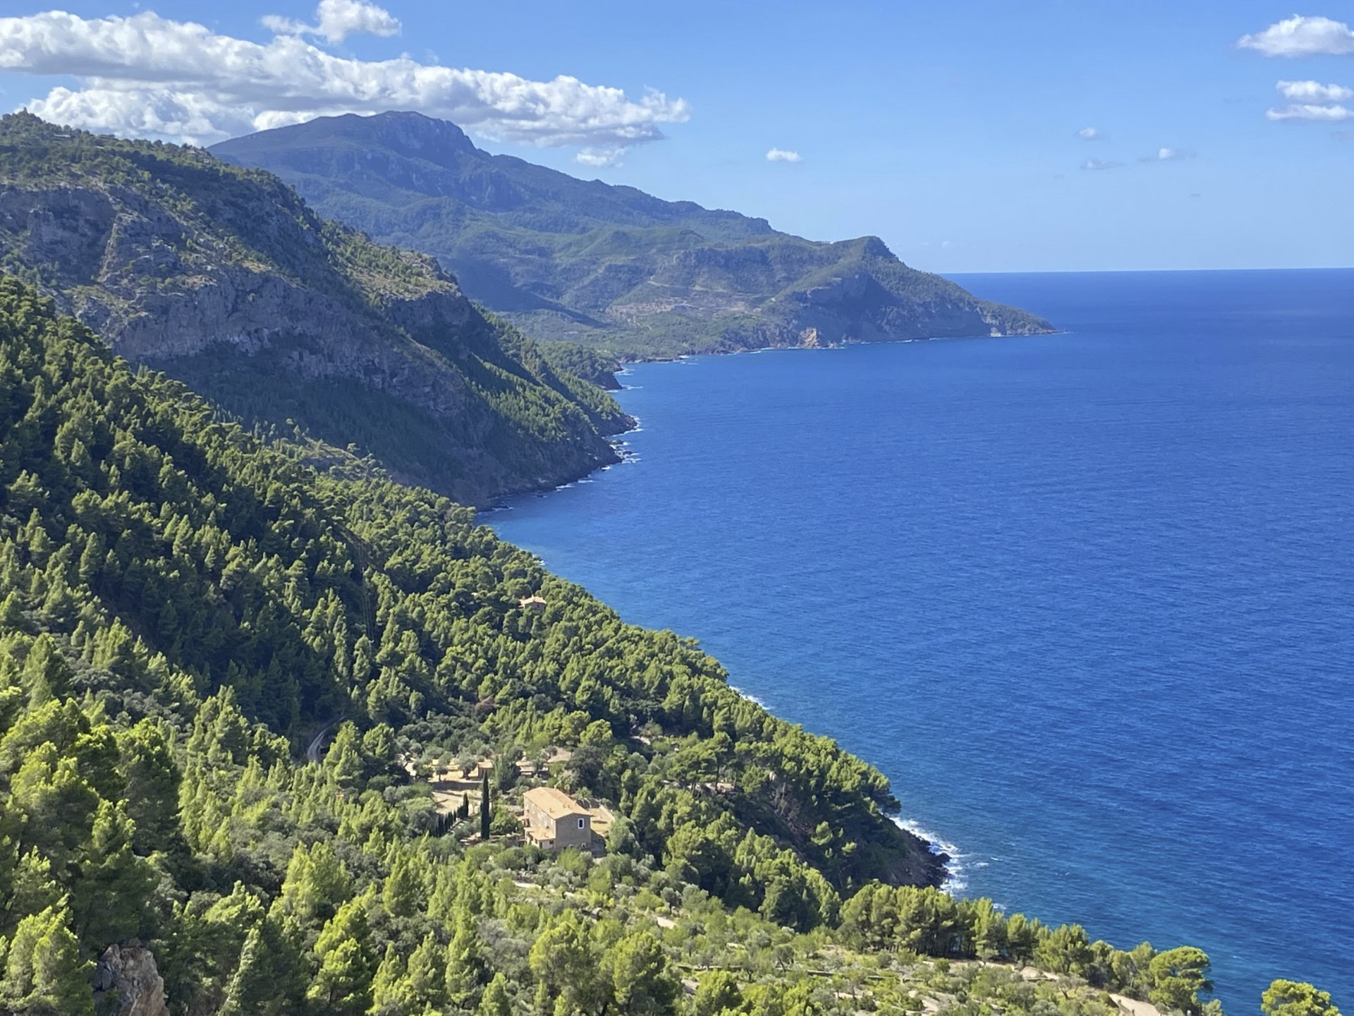
[[634,367],[486,516],[892,780],[956,891],[1354,1012],[1354,271],[980,275],[1060,335]]

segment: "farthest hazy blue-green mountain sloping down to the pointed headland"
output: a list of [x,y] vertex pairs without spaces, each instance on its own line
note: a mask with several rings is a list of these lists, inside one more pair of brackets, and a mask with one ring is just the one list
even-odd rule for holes
[[765,219],[584,182],[475,148],[416,112],[329,117],[221,142],[325,215],[435,255],[532,336],[621,355],[1052,326],[903,264],[877,237],[835,244]]

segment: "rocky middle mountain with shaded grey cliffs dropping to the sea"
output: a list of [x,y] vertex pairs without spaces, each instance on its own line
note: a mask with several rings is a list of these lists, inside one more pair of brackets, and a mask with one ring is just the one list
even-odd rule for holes
[[0,271],[242,420],[467,504],[615,462],[607,435],[630,423],[551,366],[567,350],[486,317],[432,257],[200,149],[4,117]]

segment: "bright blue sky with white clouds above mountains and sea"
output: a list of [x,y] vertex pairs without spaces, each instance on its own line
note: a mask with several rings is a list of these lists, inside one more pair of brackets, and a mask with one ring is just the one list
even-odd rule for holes
[[11,1],[0,106],[210,142],[389,99],[941,272],[1354,264],[1354,3],[325,4]]

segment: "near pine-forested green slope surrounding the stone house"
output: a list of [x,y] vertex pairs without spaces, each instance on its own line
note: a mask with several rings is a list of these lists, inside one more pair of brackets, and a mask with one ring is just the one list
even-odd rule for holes
[[[938,868],[877,771],[303,455],[0,282],[0,1012],[1200,1011],[1197,950],[890,885]],[[598,860],[502,836],[551,752],[616,811]],[[447,753],[496,760],[487,843],[410,778]]]

